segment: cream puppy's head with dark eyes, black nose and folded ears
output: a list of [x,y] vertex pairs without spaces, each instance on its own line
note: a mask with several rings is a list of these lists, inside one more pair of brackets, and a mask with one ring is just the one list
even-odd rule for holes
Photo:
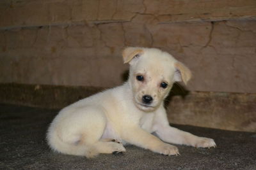
[[191,78],[188,67],[156,48],[127,47],[123,58],[130,64],[128,81],[134,104],[143,111],[156,110],[175,81],[186,84]]

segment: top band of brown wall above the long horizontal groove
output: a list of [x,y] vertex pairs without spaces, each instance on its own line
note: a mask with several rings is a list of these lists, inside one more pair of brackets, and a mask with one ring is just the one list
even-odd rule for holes
[[2,0],[0,5],[1,27],[131,21],[141,14],[163,23],[253,19],[256,12],[254,0]]

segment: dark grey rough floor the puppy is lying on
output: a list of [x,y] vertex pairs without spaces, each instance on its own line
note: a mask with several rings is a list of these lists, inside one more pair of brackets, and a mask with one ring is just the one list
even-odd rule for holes
[[[173,125],[214,138],[217,148],[178,146],[179,156],[164,156],[127,146],[120,155],[96,159],[52,152],[45,131],[57,110],[0,104],[0,169],[256,169],[256,134]],[[186,120],[184,120],[186,121]]]

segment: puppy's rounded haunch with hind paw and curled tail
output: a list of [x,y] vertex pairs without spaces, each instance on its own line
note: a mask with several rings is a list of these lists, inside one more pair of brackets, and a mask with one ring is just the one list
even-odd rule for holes
[[99,153],[125,151],[120,143],[100,141],[108,121],[104,110],[84,107],[68,115],[54,120],[49,127],[47,141],[53,150],[88,158]]

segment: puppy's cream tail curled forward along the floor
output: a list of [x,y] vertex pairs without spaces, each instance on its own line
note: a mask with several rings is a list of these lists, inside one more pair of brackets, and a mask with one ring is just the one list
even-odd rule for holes
[[47,132],[47,143],[55,152],[60,152],[68,155],[79,155],[87,158],[93,158],[99,155],[95,146],[83,145],[76,142],[65,142],[57,134],[56,131],[51,131],[52,127],[49,127]]

